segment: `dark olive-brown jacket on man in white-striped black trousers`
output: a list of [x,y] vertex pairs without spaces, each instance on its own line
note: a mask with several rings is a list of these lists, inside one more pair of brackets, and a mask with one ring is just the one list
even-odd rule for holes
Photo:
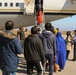
[[27,62],[45,62],[45,54],[42,42],[37,35],[30,35],[24,41],[24,56]]

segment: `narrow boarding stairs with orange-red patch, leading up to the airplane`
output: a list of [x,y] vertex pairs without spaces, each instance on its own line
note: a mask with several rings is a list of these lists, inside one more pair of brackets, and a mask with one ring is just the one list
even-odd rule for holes
[[41,30],[44,30],[45,17],[43,10],[43,0],[38,0],[39,2],[35,5],[35,25],[39,26]]

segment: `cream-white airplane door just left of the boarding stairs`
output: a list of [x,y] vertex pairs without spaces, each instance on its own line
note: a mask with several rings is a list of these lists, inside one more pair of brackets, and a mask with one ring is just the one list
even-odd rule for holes
[[35,0],[24,0],[24,14],[33,15]]

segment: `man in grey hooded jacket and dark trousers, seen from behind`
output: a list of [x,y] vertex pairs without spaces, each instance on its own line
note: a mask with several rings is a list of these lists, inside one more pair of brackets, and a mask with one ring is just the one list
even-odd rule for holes
[[53,75],[53,64],[56,59],[56,38],[52,32],[52,27],[53,26],[51,25],[51,23],[46,23],[45,30],[42,32],[42,34],[39,35],[43,43],[45,57],[49,62],[49,75]]

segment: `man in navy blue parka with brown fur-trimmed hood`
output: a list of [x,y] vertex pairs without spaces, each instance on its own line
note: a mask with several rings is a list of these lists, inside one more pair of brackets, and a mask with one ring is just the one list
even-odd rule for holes
[[0,31],[0,67],[2,75],[16,75],[18,66],[17,54],[22,53],[20,42],[11,31],[14,23],[7,21],[5,31]]

